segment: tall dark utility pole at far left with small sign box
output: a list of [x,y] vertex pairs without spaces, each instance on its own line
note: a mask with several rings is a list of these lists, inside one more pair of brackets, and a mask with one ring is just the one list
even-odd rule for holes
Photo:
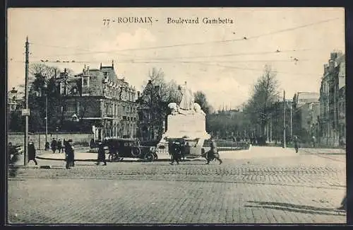
[[[28,37],[25,40],[25,110],[28,111],[28,54],[29,43]],[[24,166],[28,163],[28,117],[29,113],[25,114],[25,147],[24,147]]]

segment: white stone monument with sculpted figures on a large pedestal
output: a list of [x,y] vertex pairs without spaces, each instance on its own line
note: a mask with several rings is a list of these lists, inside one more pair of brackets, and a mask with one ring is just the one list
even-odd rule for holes
[[206,132],[205,113],[198,103],[194,102],[193,92],[184,86],[179,86],[182,93],[181,102],[169,103],[172,113],[167,117],[167,131],[162,135],[160,144],[167,144],[169,138],[185,138],[198,140],[197,145],[203,146],[205,139],[210,138]]

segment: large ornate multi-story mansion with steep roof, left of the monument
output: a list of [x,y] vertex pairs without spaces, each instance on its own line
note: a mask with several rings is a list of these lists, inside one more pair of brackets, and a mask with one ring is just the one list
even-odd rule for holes
[[114,62],[111,67],[101,64],[100,69],[85,67],[75,76],[64,71],[56,84],[61,94],[56,120],[62,121],[63,130],[76,127],[92,132],[95,139],[136,137],[136,90],[124,78],[118,79]]

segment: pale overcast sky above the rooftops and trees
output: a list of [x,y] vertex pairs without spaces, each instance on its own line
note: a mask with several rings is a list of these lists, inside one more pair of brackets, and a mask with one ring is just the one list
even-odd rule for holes
[[[118,17],[152,17],[152,23],[113,23]],[[203,18],[219,17],[233,23],[203,23]],[[199,18],[199,23],[168,24],[167,18]],[[109,26],[104,25],[104,19],[111,20]],[[265,64],[277,70],[280,89],[286,91],[287,98],[297,91],[318,92],[323,64],[328,62],[330,52],[345,50],[345,11],[344,8],[11,8],[8,10],[9,88],[24,84],[27,35],[30,63],[48,59],[49,65],[78,73],[84,64],[98,69],[100,62],[110,65],[114,59],[116,74],[125,76],[138,90],[148,71],[156,67],[164,71],[167,81],[174,79],[179,84],[187,81],[193,91],[204,91],[215,108],[223,105],[234,108],[249,98],[251,86]],[[56,60],[75,60],[75,63],[58,64]]]

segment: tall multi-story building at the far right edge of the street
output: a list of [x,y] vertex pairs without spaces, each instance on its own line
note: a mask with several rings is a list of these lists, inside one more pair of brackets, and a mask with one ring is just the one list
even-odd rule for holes
[[342,129],[345,126],[345,115],[342,115],[342,108],[340,109],[342,101],[345,101],[345,87],[342,86],[344,81],[345,54],[331,52],[328,64],[324,64],[320,88],[319,127],[323,144],[337,146],[345,137],[345,128]]

